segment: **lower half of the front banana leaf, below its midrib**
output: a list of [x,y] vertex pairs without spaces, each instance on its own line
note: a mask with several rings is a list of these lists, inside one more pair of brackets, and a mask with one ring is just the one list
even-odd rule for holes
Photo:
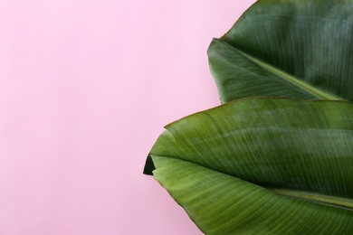
[[345,234],[352,211],[284,198],[183,160],[153,156],[156,180],[205,234]]

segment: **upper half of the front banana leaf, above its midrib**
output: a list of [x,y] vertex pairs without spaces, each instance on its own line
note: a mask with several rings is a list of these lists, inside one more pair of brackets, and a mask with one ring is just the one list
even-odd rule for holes
[[352,116],[344,101],[239,99],[168,125],[150,155],[266,187],[353,198]]

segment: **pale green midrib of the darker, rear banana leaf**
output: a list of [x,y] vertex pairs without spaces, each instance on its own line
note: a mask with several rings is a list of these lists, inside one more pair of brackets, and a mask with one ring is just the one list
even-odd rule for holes
[[[221,42],[224,42],[224,41],[221,39]],[[258,66],[262,67],[262,69],[264,69],[266,71],[271,71],[273,74],[279,76],[281,79],[287,80],[291,84],[307,91],[308,93],[310,93],[311,95],[313,95],[319,99],[346,100],[346,99],[340,98],[338,96],[335,96],[327,91],[317,89],[314,86],[312,86],[310,83],[303,81],[303,80],[300,80],[285,71],[281,71],[280,69],[272,66],[271,64],[269,64],[265,61],[254,58],[253,56],[249,55],[248,53],[242,52],[241,50],[235,48],[234,46],[230,45],[227,42],[224,42],[224,44],[231,47],[234,51],[241,53],[244,57],[246,57],[250,61],[253,61],[253,63],[257,64]]]

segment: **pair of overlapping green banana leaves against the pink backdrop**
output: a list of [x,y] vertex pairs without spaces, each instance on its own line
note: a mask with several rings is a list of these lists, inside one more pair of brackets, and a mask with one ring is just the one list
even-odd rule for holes
[[208,50],[223,105],[145,165],[206,234],[353,230],[353,1],[262,0]]

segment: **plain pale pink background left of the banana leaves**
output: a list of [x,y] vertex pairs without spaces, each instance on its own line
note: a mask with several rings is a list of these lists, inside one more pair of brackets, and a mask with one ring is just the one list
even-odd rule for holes
[[142,169],[253,2],[0,0],[0,235],[201,234]]

